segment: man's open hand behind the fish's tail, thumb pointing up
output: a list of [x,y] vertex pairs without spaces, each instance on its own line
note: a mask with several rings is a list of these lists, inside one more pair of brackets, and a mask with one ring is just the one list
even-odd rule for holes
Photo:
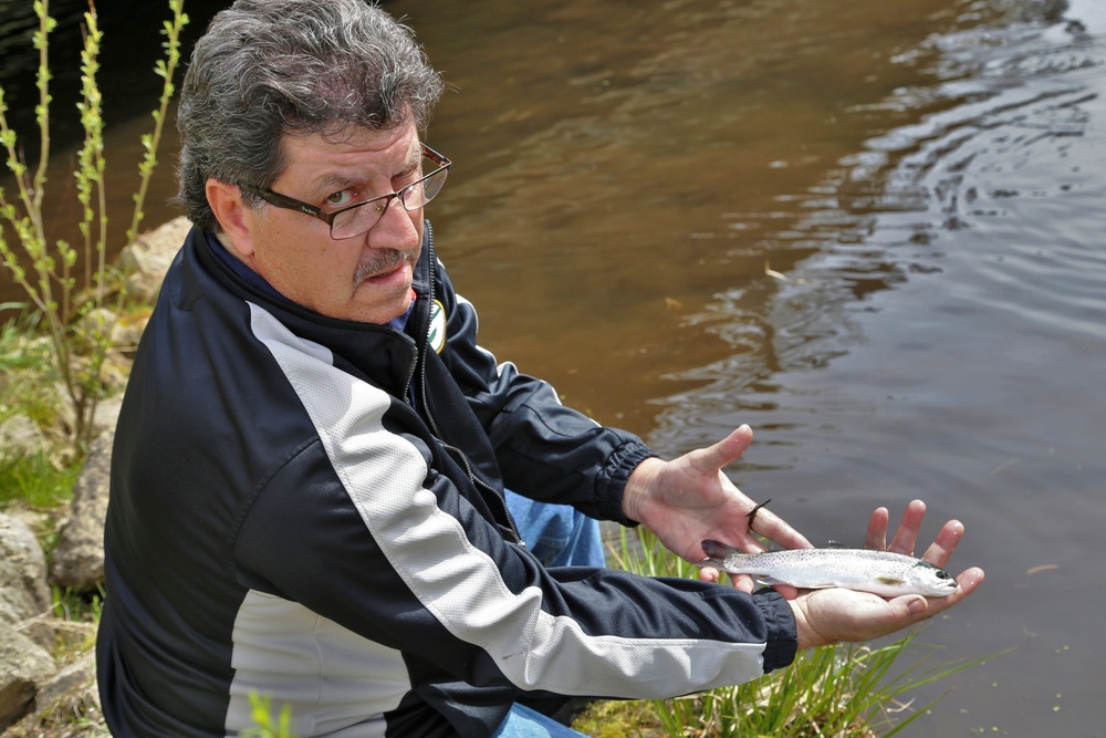
[[[743,551],[762,551],[754,533],[785,549],[810,548],[810,542],[771,511],[761,509],[749,527],[749,513],[757,503],[722,474],[741,458],[752,441],[752,430],[743,425],[719,443],[690,451],[672,461],[651,458],[629,476],[623,496],[623,510],[660,539],[668,550],[688,561],[706,558],[703,539],[726,541]],[[718,581],[711,568],[699,572],[700,579]],[[734,578],[734,585],[751,591],[749,576]],[[793,588],[781,588],[794,596]]]

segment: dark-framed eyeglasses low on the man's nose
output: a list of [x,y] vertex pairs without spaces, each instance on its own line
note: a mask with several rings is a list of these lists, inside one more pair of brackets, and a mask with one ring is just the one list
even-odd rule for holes
[[405,210],[418,210],[441,191],[441,186],[446,184],[446,175],[449,174],[449,166],[452,162],[426,144],[421,146],[422,156],[438,165],[437,169],[390,195],[380,195],[371,200],[363,200],[344,207],[341,210],[326,211],[309,202],[274,193],[268,187],[252,187],[250,185],[239,185],[239,187],[251,195],[260,197],[270,205],[275,205],[278,208],[299,210],[312,218],[319,218],[330,226],[331,238],[335,240],[354,238],[367,233],[384,217],[384,212],[392,205],[392,200],[399,200]]

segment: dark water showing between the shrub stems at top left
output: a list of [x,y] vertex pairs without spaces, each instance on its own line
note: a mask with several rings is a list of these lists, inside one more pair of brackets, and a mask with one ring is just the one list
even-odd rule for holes
[[[103,1],[96,4],[97,23],[104,34],[96,79],[104,98],[108,250],[114,252],[124,246],[124,235],[131,225],[132,196],[139,184],[138,163],[145,153],[140,136],[154,127],[149,114],[157,106],[163,84],[163,80],[154,73],[154,64],[164,54],[161,43],[165,37],[159,30],[170,12],[167,0],[132,3]],[[181,35],[186,56],[211,15],[227,4],[229,0],[186,0],[185,10],[191,19]],[[9,126],[19,137],[17,150],[32,169],[40,152],[34,111],[39,101],[35,81],[39,52],[33,46],[39,19],[33,6],[30,0],[0,0],[0,84],[9,106]],[[58,21],[56,29],[49,37],[50,94],[53,98],[50,105],[52,156],[43,209],[51,242],[64,239],[80,243],[83,240],[77,229],[81,209],[73,169],[84,135],[76,103],[81,94],[81,49],[84,14],[88,6],[87,0],[51,0],[49,3],[50,15]],[[170,123],[159,152],[160,165],[144,208],[144,225],[148,228],[178,215],[169,205],[176,191],[173,175],[175,152]],[[3,152],[0,152],[0,187],[9,197],[15,191]],[[8,227],[7,224],[3,226]],[[10,231],[6,231],[6,236],[10,242],[14,241]],[[25,300],[25,295],[12,285],[7,270],[0,270],[0,304],[11,300]],[[8,314],[0,313],[0,318]]]

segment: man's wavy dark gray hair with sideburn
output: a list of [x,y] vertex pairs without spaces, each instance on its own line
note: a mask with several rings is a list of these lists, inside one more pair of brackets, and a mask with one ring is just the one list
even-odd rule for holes
[[422,132],[442,86],[410,29],[365,0],[238,0],[211,21],[185,75],[179,200],[216,232],[208,178],[271,186],[285,136],[411,118]]

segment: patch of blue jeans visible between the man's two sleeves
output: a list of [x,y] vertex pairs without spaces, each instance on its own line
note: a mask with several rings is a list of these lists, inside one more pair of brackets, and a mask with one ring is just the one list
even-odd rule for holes
[[535,502],[507,490],[507,508],[526,548],[545,567],[604,567],[597,520],[567,505]]

